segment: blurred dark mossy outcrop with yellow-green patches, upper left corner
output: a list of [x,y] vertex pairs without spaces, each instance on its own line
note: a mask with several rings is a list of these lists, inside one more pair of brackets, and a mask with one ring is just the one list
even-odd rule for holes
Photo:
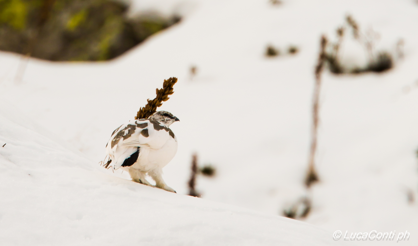
[[45,60],[108,60],[178,22],[127,18],[111,0],[0,0],[0,50]]

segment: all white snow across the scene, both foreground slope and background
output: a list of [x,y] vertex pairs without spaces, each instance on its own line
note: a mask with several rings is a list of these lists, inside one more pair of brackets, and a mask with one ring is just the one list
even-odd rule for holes
[[[168,6],[184,2],[145,3],[172,11]],[[0,203],[2,237],[24,233],[27,239],[21,240],[28,241],[20,244],[54,244],[62,238],[69,245],[85,238],[102,244],[146,243],[152,238],[166,240],[149,242],[153,245],[169,240],[186,245],[302,245],[309,240],[338,243],[331,239],[336,230],[408,230],[410,240],[400,243],[415,245],[418,34],[413,30],[418,5],[410,0],[189,3],[197,7],[181,23],[110,62],[31,59],[23,82],[16,83],[20,58],[1,53],[0,98],[17,108],[7,115],[20,116],[13,124],[0,125],[0,140],[7,143],[0,148],[0,167],[5,169],[1,196],[7,197],[6,204]],[[377,49],[392,49],[403,38],[405,58],[382,74],[324,73],[316,158],[321,182],[307,191],[303,178],[319,38],[322,33],[334,38],[348,13],[363,30],[372,27],[380,33]],[[300,51],[267,59],[263,54],[268,43],[282,51],[297,45]],[[194,78],[189,74],[192,65],[197,67]],[[164,168],[164,179],[178,194],[132,183],[126,173],[101,171],[99,164],[92,164],[104,159],[112,131],[133,119],[163,79],[172,76],[178,78],[175,93],[161,110],[181,121],[171,126],[178,152]],[[10,108],[4,105],[1,110]],[[22,113],[13,113],[18,111]],[[11,133],[28,131],[21,126],[38,133]],[[217,167],[215,178],[197,180],[203,199],[181,195],[187,193],[194,152],[200,164]],[[412,203],[408,192],[415,197]],[[316,226],[277,216],[303,196],[313,202],[305,222]],[[138,206],[143,207],[133,209]],[[224,212],[228,209],[239,218],[230,218]],[[20,227],[10,226],[12,221]],[[134,225],[141,233],[126,233]],[[114,230],[124,236],[110,233]]]

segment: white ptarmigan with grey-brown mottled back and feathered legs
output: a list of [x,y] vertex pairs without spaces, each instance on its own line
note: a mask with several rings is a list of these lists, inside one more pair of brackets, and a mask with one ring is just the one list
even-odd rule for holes
[[177,152],[177,138],[168,128],[178,118],[167,111],[153,113],[148,119],[130,120],[117,128],[106,145],[106,153],[114,168],[128,171],[132,180],[176,192],[168,187],[162,177],[162,168]]

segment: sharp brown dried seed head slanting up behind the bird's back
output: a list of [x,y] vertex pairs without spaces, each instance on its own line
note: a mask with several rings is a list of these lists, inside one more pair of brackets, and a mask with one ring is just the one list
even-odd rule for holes
[[138,119],[147,119],[153,113],[157,112],[157,108],[163,105],[163,102],[170,99],[168,95],[172,95],[174,93],[173,86],[177,82],[177,78],[169,78],[168,80],[164,80],[163,88],[155,89],[155,93],[157,96],[153,99],[147,99],[148,103],[145,107],[141,107],[138,113],[135,116],[135,120]]

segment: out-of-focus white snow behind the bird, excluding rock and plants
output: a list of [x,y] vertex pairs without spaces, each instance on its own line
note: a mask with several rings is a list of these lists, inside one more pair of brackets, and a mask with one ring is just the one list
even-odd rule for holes
[[[164,78],[176,76],[175,93],[161,110],[181,120],[171,127],[178,153],[164,168],[166,183],[178,193],[187,193],[191,154],[197,152],[200,163],[218,169],[216,178],[197,181],[204,199],[281,215],[286,204],[309,196],[308,223],[331,232],[408,230],[411,238],[402,243],[416,244],[418,5],[412,0],[194,3],[198,7],[181,23],[109,63],[30,60],[23,83],[16,84],[19,58],[2,53],[0,97],[97,163],[110,133],[154,97]],[[347,13],[362,29],[380,33],[379,48],[392,48],[403,38],[405,59],[384,74],[324,74],[321,182],[306,191],[319,38],[334,37]],[[282,49],[295,44],[300,52],[266,59],[268,43]],[[192,65],[198,68],[193,79]],[[119,177],[128,178],[125,174]],[[415,201],[408,203],[407,193]]]

